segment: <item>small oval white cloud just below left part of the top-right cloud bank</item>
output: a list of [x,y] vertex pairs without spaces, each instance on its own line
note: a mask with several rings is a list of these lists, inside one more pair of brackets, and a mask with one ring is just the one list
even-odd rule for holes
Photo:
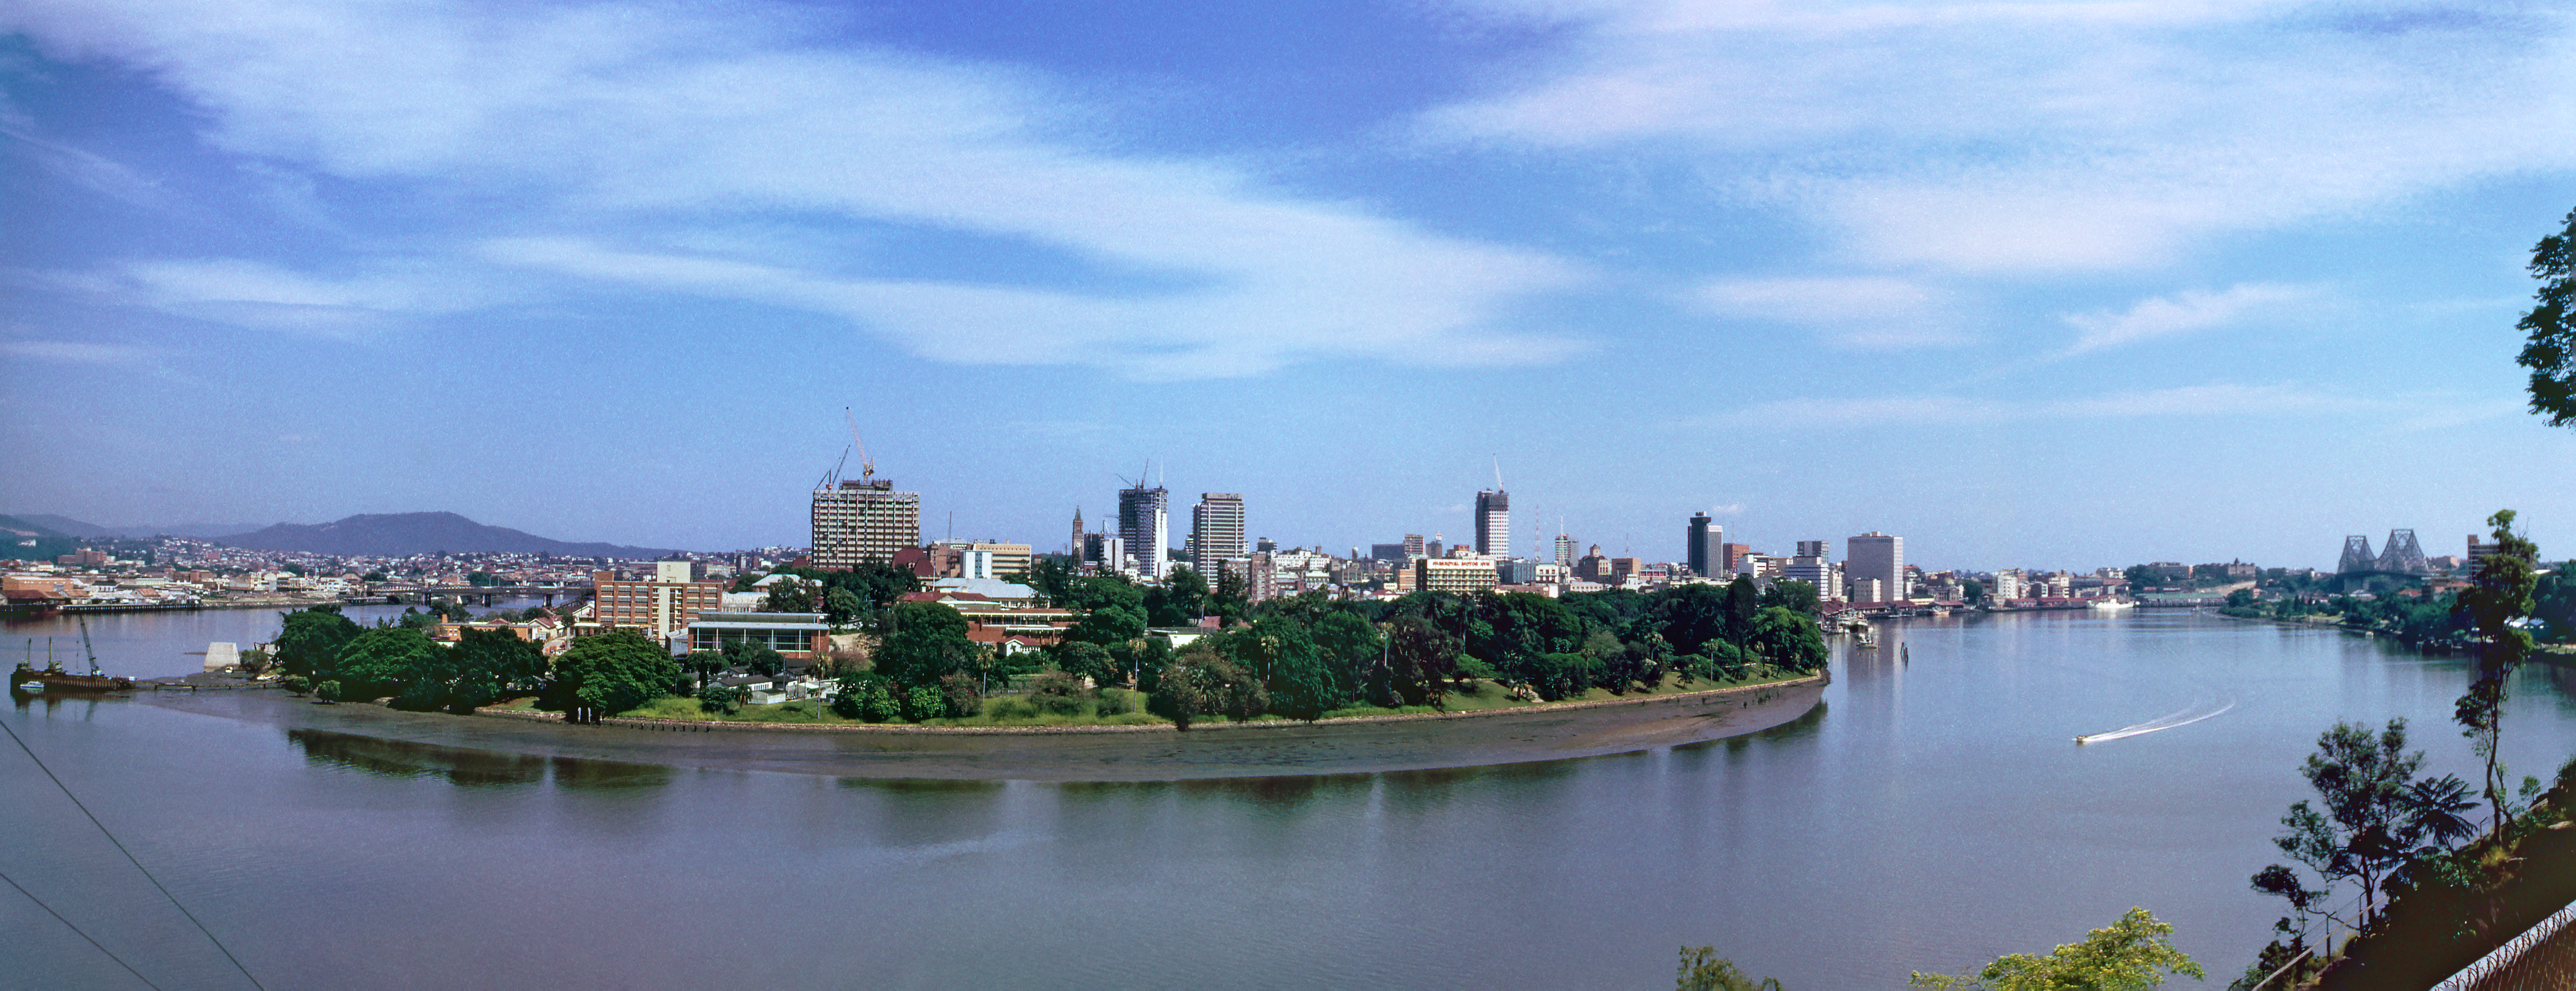
[[1963,345],[1947,291],[1906,278],[1723,278],[1698,304],[1718,317],[1788,322],[1855,350]]

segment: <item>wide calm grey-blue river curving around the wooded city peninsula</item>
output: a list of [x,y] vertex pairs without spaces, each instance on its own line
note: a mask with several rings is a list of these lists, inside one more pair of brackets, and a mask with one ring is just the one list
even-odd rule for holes
[[[178,674],[273,631],[237,615],[90,628],[111,672]],[[0,636],[41,654],[62,628]],[[1909,620],[1747,739],[1115,785],[510,757],[129,700],[0,718],[268,988],[1659,988],[1680,945],[1790,991],[1891,988],[2128,906],[2223,986],[2282,914],[2246,875],[2282,860],[2316,736],[2403,716],[2476,777],[2463,685],[2398,644],[2174,610]],[[2576,752],[2571,698],[2563,669],[2522,674],[2517,775]],[[26,754],[0,793],[0,873],[162,988],[247,986]],[[0,986],[139,986],[15,891],[0,924]]]

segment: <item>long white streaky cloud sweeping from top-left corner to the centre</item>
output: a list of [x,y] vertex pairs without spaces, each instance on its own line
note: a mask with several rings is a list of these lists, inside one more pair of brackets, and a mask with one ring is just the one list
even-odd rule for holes
[[[827,49],[791,18],[428,0],[36,0],[15,13],[54,49],[155,67],[211,111],[224,149],[489,203],[461,232],[487,263],[832,311],[940,360],[1236,376],[1314,358],[1543,363],[1582,347],[1507,319],[1512,301],[1589,278],[1574,263],[1306,198],[1229,162],[1074,139],[1095,121],[1030,77]],[[891,224],[894,250],[904,229],[992,237],[1087,270],[1074,283],[1095,288],[989,260],[886,278],[871,257],[675,250],[706,227],[775,216]],[[399,309],[371,304],[371,286],[229,275],[263,296],[227,309],[245,322]],[[1097,288],[1128,281],[1159,288]]]

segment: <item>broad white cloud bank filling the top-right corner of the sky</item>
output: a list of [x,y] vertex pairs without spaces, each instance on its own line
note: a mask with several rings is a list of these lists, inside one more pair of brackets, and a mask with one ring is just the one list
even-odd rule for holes
[[1479,3],[1561,62],[1430,113],[1445,142],[1664,154],[1953,273],[2159,265],[2576,165],[2555,10],[2308,3]]

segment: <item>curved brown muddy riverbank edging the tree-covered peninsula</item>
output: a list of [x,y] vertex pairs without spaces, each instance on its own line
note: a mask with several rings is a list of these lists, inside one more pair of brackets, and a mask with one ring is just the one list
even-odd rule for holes
[[[1365,775],[1628,754],[1757,734],[1819,708],[1829,677],[1473,713],[1352,716],[1316,723],[1170,726],[778,726],[402,713],[317,705],[286,692],[147,692],[144,705],[415,744],[474,762],[477,752],[626,764],[927,780],[1200,780]],[[659,723],[659,726],[654,726]],[[453,754],[440,754],[451,749]]]

